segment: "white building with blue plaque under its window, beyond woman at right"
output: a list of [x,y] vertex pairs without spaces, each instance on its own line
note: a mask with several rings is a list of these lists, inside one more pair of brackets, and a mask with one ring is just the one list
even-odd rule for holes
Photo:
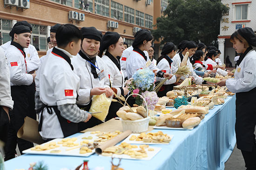
[[224,13],[220,23],[220,35],[218,36],[219,50],[222,52],[221,60],[229,56],[232,66],[235,66],[236,51],[230,42],[233,32],[243,27],[251,27],[256,31],[256,0],[222,0],[229,7],[228,13]]

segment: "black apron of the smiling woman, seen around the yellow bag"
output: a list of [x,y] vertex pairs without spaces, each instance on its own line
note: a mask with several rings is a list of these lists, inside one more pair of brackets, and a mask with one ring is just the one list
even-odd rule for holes
[[[90,110],[91,105],[92,105],[92,101],[90,101],[90,103],[88,105],[77,105],[77,106],[80,109],[83,109],[88,112]],[[79,122],[78,123],[78,132],[83,131],[88,128],[91,128],[91,127],[94,127],[101,123],[103,123],[101,120],[98,120],[97,118],[92,116],[88,122]]]

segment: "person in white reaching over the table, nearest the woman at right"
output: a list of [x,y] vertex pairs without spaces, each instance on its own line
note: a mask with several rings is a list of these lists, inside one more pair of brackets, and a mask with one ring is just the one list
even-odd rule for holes
[[[221,76],[233,76],[234,73],[231,73],[231,72],[227,72],[223,69],[221,69],[221,66],[218,67],[218,64],[215,62],[215,59],[218,57],[218,54],[216,52],[216,50],[209,50],[207,55],[206,55],[206,58],[205,58],[205,64],[211,64],[213,66],[213,69],[216,69],[217,70],[217,73]],[[217,68],[215,68],[217,67]]]

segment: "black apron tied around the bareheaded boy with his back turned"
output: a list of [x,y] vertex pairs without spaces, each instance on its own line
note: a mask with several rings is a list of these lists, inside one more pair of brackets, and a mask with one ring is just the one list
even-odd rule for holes
[[47,109],[47,113],[48,114],[53,114],[53,110],[52,109],[54,109],[54,112],[57,115],[57,118],[58,118],[58,120],[60,122],[61,130],[63,132],[64,138],[66,138],[67,136],[73,135],[73,134],[78,132],[77,123],[71,122],[71,121],[63,118],[61,116],[61,112],[58,110],[57,106],[47,106],[47,105],[44,105],[43,107],[41,107],[38,110],[36,110],[36,113],[40,113],[41,112],[40,122],[39,122],[39,125],[38,125],[38,131],[39,132],[41,132],[41,129],[42,129],[43,110],[44,110],[44,108]]

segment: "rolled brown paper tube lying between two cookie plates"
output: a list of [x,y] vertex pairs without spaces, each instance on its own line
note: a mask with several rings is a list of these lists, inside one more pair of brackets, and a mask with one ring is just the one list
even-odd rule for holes
[[102,145],[99,145],[95,149],[95,152],[100,155],[102,151],[104,151],[106,148],[116,145],[117,143],[121,142],[123,139],[127,138],[131,133],[132,132],[130,130],[122,132],[121,134],[117,135],[115,138],[108,140]]

